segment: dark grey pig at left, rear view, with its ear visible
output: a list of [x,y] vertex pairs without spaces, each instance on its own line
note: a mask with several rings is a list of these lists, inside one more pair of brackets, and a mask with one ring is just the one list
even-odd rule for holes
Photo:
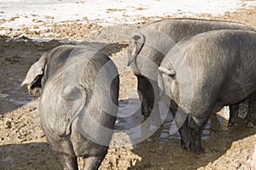
[[90,46],[60,46],[32,65],[22,85],[40,87],[40,118],[64,169],[97,169],[113,134],[119,76],[113,61]]

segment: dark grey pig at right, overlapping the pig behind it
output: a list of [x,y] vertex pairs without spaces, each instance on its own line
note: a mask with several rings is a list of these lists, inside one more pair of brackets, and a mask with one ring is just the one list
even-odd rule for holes
[[203,152],[201,131],[211,112],[256,90],[256,32],[219,30],[184,38],[163,59],[159,86],[177,110],[183,148]]

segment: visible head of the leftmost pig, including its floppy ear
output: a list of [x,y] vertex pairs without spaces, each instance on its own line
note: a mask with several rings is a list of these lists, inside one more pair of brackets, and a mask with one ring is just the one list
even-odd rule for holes
[[46,63],[46,54],[44,54],[36,63],[34,63],[26,74],[25,80],[20,84],[27,84],[29,94],[40,96],[44,85],[44,70]]

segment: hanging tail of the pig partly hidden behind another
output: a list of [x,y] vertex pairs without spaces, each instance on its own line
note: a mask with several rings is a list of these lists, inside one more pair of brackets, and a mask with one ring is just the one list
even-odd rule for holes
[[140,53],[145,42],[145,37],[139,32],[132,34],[131,42],[128,47],[128,66],[131,65],[137,54]]

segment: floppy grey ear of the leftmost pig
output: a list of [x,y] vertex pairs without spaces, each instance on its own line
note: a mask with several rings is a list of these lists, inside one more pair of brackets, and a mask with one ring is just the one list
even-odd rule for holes
[[32,85],[38,81],[38,77],[44,74],[44,66],[46,62],[46,54],[44,54],[37,62],[35,62],[26,74],[25,80],[20,84],[24,86],[26,84]]

